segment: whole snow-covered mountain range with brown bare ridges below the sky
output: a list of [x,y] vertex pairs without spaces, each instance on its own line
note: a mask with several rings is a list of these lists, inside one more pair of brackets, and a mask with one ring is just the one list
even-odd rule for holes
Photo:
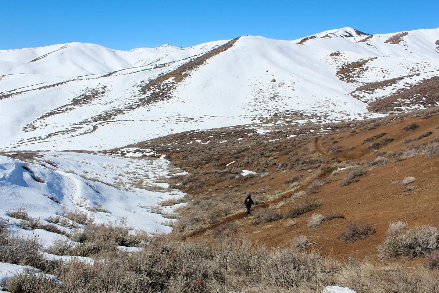
[[438,104],[439,29],[0,51],[0,148],[107,149],[191,129],[361,119]]

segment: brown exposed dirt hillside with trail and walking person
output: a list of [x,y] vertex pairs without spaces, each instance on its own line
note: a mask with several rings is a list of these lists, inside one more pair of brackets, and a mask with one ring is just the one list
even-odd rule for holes
[[[405,130],[412,123],[417,127]],[[166,152],[168,159],[191,172],[178,181],[183,183],[179,188],[189,193],[189,205],[181,215],[196,216],[190,227],[176,228],[184,238],[210,237],[212,231],[237,223],[242,233],[271,246],[290,246],[294,236],[306,235],[314,243],[311,249],[347,259],[377,257],[377,248],[393,221],[406,221],[410,227],[439,226],[439,156],[428,158],[424,153],[439,142],[438,109],[321,125],[313,132],[308,127],[300,129],[302,134],[297,129],[278,129],[263,135],[248,128],[223,128],[176,134],[137,147]],[[286,133],[298,134],[285,138]],[[210,142],[205,144],[207,140]],[[349,166],[365,168],[367,173],[342,186],[347,170],[332,172]],[[237,175],[241,170],[260,175],[242,177]],[[410,191],[401,184],[406,176],[416,178]],[[291,178],[298,178],[295,186],[290,185]],[[311,195],[292,200],[315,179],[329,182]],[[248,194],[258,204],[246,217],[242,202]],[[255,224],[260,211],[276,207],[288,211],[313,197],[324,205],[296,217],[293,226],[287,226],[288,219]],[[217,214],[225,208],[229,210],[223,216]],[[312,213],[329,212],[345,218],[307,227]],[[345,224],[353,221],[370,224],[375,233],[353,242],[338,239]]]

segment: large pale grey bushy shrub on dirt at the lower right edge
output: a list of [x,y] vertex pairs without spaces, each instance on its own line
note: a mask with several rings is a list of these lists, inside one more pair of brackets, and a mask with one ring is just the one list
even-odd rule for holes
[[409,229],[406,223],[391,223],[379,252],[385,258],[428,255],[437,247],[438,238],[439,231],[432,225]]

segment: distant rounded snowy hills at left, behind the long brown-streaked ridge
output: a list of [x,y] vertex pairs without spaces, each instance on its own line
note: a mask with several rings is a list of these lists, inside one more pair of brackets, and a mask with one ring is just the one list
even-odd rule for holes
[[0,75],[33,73],[51,76],[83,76],[176,61],[226,43],[215,41],[188,48],[166,44],[131,51],[109,49],[89,43],[67,43],[40,48],[0,51]]

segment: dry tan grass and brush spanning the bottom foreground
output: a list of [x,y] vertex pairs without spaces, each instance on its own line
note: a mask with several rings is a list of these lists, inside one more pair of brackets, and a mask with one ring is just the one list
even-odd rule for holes
[[[15,240],[7,242],[5,239],[11,236],[0,235],[0,261],[34,265],[62,280],[55,284],[22,273],[9,279],[4,288],[14,293],[310,293],[322,292],[328,284],[349,286],[363,293],[439,290],[438,271],[355,260],[341,263],[303,251],[310,244],[304,235],[292,239],[291,247],[280,249],[251,242],[230,229],[219,232],[214,239],[182,241],[172,235],[156,235],[139,252],[96,252],[95,258],[105,262],[94,264],[79,260],[44,262],[34,240],[17,241],[12,237]],[[72,247],[68,243],[58,245]]]

